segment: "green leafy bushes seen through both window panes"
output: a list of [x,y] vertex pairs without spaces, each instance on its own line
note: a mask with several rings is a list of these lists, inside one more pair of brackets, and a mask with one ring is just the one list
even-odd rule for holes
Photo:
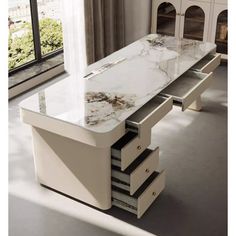
[[[25,33],[19,37],[12,37],[12,34],[16,32],[14,28],[9,30],[9,70],[35,58],[31,24],[26,22],[20,28],[24,29]],[[39,21],[39,29],[42,55],[63,47],[61,22],[50,18],[44,18]]]

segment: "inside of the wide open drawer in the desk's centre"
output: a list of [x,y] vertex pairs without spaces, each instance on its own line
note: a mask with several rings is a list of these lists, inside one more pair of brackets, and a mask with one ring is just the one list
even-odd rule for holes
[[182,98],[189,93],[199,81],[204,79],[206,74],[187,71],[168,87],[161,91],[161,94],[173,96],[175,100],[181,102]]

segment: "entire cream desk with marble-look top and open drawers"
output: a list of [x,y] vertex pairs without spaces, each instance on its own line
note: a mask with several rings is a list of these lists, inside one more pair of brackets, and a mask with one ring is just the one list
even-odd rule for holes
[[88,73],[122,58],[80,78],[79,86],[69,76],[23,101],[38,181],[99,209],[114,205],[140,218],[165,187],[151,129],[173,103],[182,111],[201,110],[201,94],[220,64],[215,48],[148,35],[91,65]]

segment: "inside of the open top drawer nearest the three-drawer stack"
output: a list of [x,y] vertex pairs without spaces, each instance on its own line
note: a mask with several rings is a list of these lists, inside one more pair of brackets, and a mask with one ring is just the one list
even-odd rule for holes
[[137,110],[133,115],[131,115],[127,120],[135,123],[140,123],[148,115],[152,114],[163,102],[166,101],[166,98],[161,96],[155,96],[148,103],[142,106]]

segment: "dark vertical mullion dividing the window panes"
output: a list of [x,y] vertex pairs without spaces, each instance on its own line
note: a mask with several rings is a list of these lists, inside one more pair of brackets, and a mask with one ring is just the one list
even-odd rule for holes
[[41,53],[41,43],[40,43],[37,0],[30,0],[30,10],[31,10],[32,30],[34,39],[35,59],[37,61],[41,61],[42,53]]

